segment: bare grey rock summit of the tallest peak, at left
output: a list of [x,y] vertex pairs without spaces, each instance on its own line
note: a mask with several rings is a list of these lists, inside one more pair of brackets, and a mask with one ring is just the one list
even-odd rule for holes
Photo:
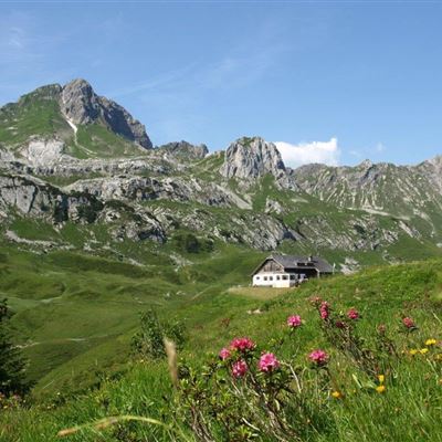
[[152,148],[145,126],[117,103],[96,95],[84,80],[74,80],[62,88],[60,106],[67,120],[74,125],[102,122],[115,134],[146,149]]

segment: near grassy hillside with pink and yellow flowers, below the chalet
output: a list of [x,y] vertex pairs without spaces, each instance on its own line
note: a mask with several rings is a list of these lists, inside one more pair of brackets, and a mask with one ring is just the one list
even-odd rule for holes
[[[210,440],[198,436],[194,421],[187,414],[193,407],[193,411],[204,417],[202,422],[214,440],[231,440],[233,433],[229,435],[230,430],[221,424],[222,420],[212,422],[210,415],[211,407],[227,400],[229,407],[212,412],[222,412],[228,421],[238,420],[243,432],[234,427],[235,440],[248,440],[253,434],[254,440],[276,440],[269,432],[272,425],[266,421],[265,408],[244,409],[248,403],[254,403],[243,402],[249,393],[254,397],[251,379],[246,376],[232,379],[230,362],[221,366],[215,362],[222,347],[235,337],[248,336],[257,345],[253,355],[246,356],[252,358],[246,360],[253,370],[257,370],[254,367],[261,351],[266,351],[280,364],[281,371],[280,368],[274,371],[275,382],[286,370],[287,376],[292,369],[296,373],[299,386],[295,378],[286,379],[284,386],[293,392],[288,397],[280,392],[274,398],[274,407],[280,408],[274,412],[281,413],[284,425],[296,438],[438,441],[442,397],[441,291],[442,264],[429,261],[372,267],[354,276],[309,282],[269,301],[254,301],[250,293],[242,296],[241,288],[236,293],[220,287],[209,295],[201,293],[198,302],[189,301],[177,312],[190,330],[185,349],[179,352],[180,389],[188,392],[185,397],[180,396],[180,389],[173,392],[166,361],[135,358],[123,376],[104,375],[91,391],[73,393],[67,386],[59,385],[44,401],[29,399],[31,402],[24,406],[7,402],[0,418],[1,435],[6,441],[17,436],[20,441],[55,441],[60,440],[56,435],[60,430],[92,424],[106,417],[131,414],[158,420],[167,427],[122,421],[106,428],[86,425],[66,438],[73,441]],[[335,328],[336,320],[345,322],[354,330],[352,340],[348,341],[346,336],[350,335],[346,334],[340,335],[343,340],[335,335],[330,339],[324,319],[311,303],[312,296],[329,303],[334,320],[327,327],[340,330]],[[354,316],[347,317],[350,308],[357,312],[357,320]],[[170,312],[167,305],[161,311]],[[293,315],[302,318],[302,326],[296,329],[286,323]],[[410,324],[404,324],[404,317],[412,318],[415,325],[412,332]],[[357,343],[356,349],[351,343]],[[309,367],[307,356],[318,348],[329,355],[327,370]],[[372,355],[372,359],[361,358],[362,354]],[[185,367],[188,368],[185,370]],[[376,367],[376,372],[370,367]],[[213,369],[220,370],[219,375],[207,378]],[[189,383],[186,379],[194,380]],[[267,382],[271,378],[264,371],[259,379]],[[302,393],[297,390],[299,387]],[[197,400],[194,394],[200,398],[198,402],[192,402]],[[215,402],[211,401],[211,394],[215,394]],[[246,415],[251,420],[242,419]],[[185,423],[183,417],[187,417]],[[282,434],[280,440],[293,440],[288,433],[277,434]]]

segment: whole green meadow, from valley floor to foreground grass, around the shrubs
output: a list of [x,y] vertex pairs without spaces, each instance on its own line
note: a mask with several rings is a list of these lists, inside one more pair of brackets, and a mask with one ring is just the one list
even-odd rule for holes
[[[272,351],[305,379],[303,393],[299,391],[299,397],[305,396],[304,411],[298,413],[294,408],[287,414],[293,425],[296,423],[296,438],[270,438],[263,430],[265,421],[257,420],[251,422],[253,438],[229,439],[212,417],[204,415],[215,434],[213,440],[442,441],[440,260],[370,267],[276,293],[240,286],[245,285],[260,259],[250,251],[230,249],[218,259],[202,259],[190,267],[152,265],[149,272],[57,253],[33,261],[22,254],[2,254],[1,275],[7,284],[1,290],[18,312],[18,336],[23,341],[42,343],[24,349],[32,360],[30,375],[36,386],[24,404],[4,406],[0,414],[2,441],[204,440],[196,436],[190,420],[185,419],[183,403],[189,398],[173,390],[167,361],[129,355],[138,312],[147,305],[155,305],[162,319],[178,318],[186,324],[187,341],[178,358],[202,389],[201,407],[211,397],[224,400],[214,394],[213,385],[204,383],[203,376],[208,367],[220,364],[214,362],[218,351],[234,337],[250,337],[256,343],[257,355]],[[22,273],[14,274],[19,267]],[[385,325],[397,356],[382,365],[383,391],[377,390],[377,378],[326,338],[309,302],[312,296],[326,299],[336,315],[357,308],[360,319],[355,329],[364,338],[364,347],[376,349],[377,329]],[[301,315],[303,326],[287,334],[286,318],[293,314]],[[413,333],[407,333],[404,316],[417,324]],[[87,340],[72,340],[86,336]],[[430,338],[436,344],[425,346]],[[307,360],[316,348],[330,356],[327,371],[333,381],[320,389],[319,370]],[[222,372],[229,378],[229,370]],[[221,388],[231,382],[227,379]],[[241,383],[245,380],[234,382],[246,391]],[[333,396],[336,392],[339,398]],[[290,397],[284,398],[291,403]],[[234,407],[235,397],[227,399],[229,407],[232,402]],[[239,411],[244,406],[240,402]],[[158,422],[90,425],[57,436],[63,429],[128,414]]]

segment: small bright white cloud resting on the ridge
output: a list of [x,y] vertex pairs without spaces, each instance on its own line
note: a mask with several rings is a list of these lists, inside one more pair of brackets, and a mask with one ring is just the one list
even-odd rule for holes
[[284,164],[290,167],[299,167],[312,162],[322,162],[328,166],[338,166],[340,150],[337,138],[329,141],[312,141],[291,145],[284,141],[275,143],[283,157]]

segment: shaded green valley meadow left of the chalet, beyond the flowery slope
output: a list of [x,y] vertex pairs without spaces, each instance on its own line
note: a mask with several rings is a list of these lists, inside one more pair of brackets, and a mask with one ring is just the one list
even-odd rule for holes
[[[175,315],[193,297],[244,283],[260,259],[224,246],[210,256],[190,254],[196,263],[176,271],[166,255],[148,257],[146,252],[150,264],[144,266],[67,251],[33,254],[6,248],[2,256],[0,296],[15,313],[12,325],[32,362],[35,396],[51,394],[61,383],[87,387],[96,381],[93,372],[84,376],[88,369],[119,369],[128,359],[122,343],[127,344],[141,311],[156,306],[162,315]],[[84,371],[73,372],[75,366]]]

